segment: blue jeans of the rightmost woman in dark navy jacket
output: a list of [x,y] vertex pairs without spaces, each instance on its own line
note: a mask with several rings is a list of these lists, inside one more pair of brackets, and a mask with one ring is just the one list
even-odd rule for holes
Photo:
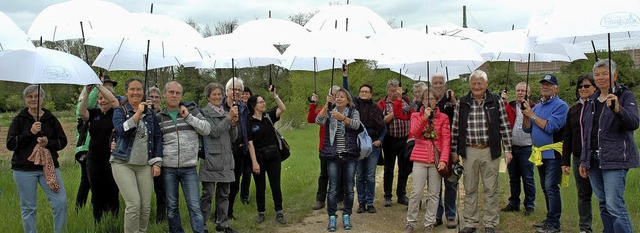
[[633,232],[624,202],[627,172],[627,169],[602,170],[599,168],[599,162],[591,158],[589,180],[600,203],[604,232]]

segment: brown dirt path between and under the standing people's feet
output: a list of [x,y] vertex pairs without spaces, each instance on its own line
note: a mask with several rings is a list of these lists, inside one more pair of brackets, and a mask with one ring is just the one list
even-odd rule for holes
[[[351,222],[353,224],[353,229],[349,231],[345,231],[342,228],[342,221],[338,220],[338,230],[336,232],[402,232],[404,229],[404,225],[406,223],[407,217],[407,207],[404,205],[400,205],[394,203],[391,207],[384,207],[382,205],[383,201],[383,190],[382,190],[382,176],[383,171],[382,167],[378,167],[376,174],[376,200],[375,207],[378,210],[375,214],[370,213],[356,213],[357,209],[357,194],[356,198],[354,198],[354,214],[351,217]],[[397,173],[396,173],[397,174]],[[397,179],[397,178],[396,178]],[[407,185],[407,192],[411,192],[411,178],[409,178],[409,184]],[[394,185],[395,188],[395,185]],[[355,191],[355,190],[354,190]],[[407,194],[409,195],[409,194]],[[425,194],[426,195],[426,194]],[[462,195],[462,191],[461,191]],[[424,197],[423,197],[424,200]],[[309,209],[311,209],[311,203],[309,204]],[[416,232],[422,232],[422,225],[424,224],[424,208],[420,210],[420,214],[418,215],[418,227],[416,227]],[[280,228],[278,232],[327,232],[327,210],[326,208],[321,210],[313,210],[310,216],[306,217],[302,223],[291,224],[287,227]],[[445,226],[438,226],[435,228],[435,232],[444,232],[444,233],[455,233],[456,229],[447,229]]]

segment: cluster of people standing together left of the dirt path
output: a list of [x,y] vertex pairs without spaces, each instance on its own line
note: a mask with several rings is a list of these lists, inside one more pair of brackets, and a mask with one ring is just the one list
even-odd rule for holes
[[[214,197],[216,232],[236,232],[227,220],[233,218],[232,200],[239,191],[243,168],[248,167],[247,180],[253,173],[256,182],[256,221],[265,221],[268,175],[276,220],[286,224],[280,152],[277,147],[273,150],[278,145],[273,123],[286,108],[275,87],[269,92],[278,107],[268,111],[264,97],[243,95],[245,87],[239,78],[230,79],[226,86],[207,85],[207,105],[202,109],[182,100],[184,92],[177,81],[167,82],[162,93],[155,87],[145,93],[143,81],[131,78],[120,99],[113,91],[115,85],[117,82],[104,78],[103,85],[87,86],[77,109],[82,125],[78,127],[76,160],[83,164],[81,177],[92,192],[96,223],[105,214],[118,214],[120,195],[125,202],[124,232],[146,232],[155,186],[156,220],[166,218],[170,232],[184,232],[178,205],[182,187],[193,232],[208,232]],[[166,103],[162,109],[160,94]],[[14,118],[7,137],[7,148],[14,151],[12,169],[23,228],[36,232],[36,186],[40,184],[54,210],[54,232],[64,232],[67,198],[57,151],[66,147],[67,138],[57,118],[42,108],[45,93],[39,86],[28,86],[23,98],[27,107]],[[86,135],[81,135],[83,127]],[[247,190],[242,201],[249,203],[249,184],[243,186]],[[81,185],[78,208],[86,202],[88,189]]]

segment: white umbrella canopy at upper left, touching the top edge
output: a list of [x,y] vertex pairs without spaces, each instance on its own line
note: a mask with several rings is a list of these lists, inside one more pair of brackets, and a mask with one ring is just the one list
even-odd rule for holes
[[[42,38],[46,41],[88,38],[99,30],[114,31],[123,26],[124,21],[119,19],[128,13],[117,4],[100,0],[72,0],[53,4],[38,14],[28,35],[31,39]],[[83,36],[83,30],[86,36]]]

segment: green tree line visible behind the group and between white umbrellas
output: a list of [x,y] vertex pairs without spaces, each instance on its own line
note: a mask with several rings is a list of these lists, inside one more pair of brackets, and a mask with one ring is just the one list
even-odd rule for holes
[[[289,20],[304,25],[315,12],[297,13],[289,16]],[[228,34],[233,32],[239,22],[237,19],[217,22],[213,28],[210,25],[201,26],[189,19],[187,23],[192,25],[196,30],[200,31],[204,37],[212,35]],[[389,21],[392,27],[397,27],[395,20]],[[39,42],[38,42],[39,45]],[[65,51],[84,58],[82,43],[79,40],[69,40],[60,42],[45,42],[43,46],[51,49]],[[278,47],[282,52],[285,47]],[[99,48],[87,46],[89,61],[93,61],[100,52]],[[560,72],[553,73],[558,77],[560,82],[559,96],[567,101],[570,105],[574,103],[576,98],[575,87],[578,76],[584,73],[590,73],[591,67],[595,62],[593,54],[587,54],[588,60],[578,60],[567,63]],[[599,52],[598,57],[606,57],[606,52]],[[640,87],[637,85],[636,77],[640,76],[640,69],[634,69],[634,62],[631,57],[624,53],[613,52],[612,59],[618,63],[618,81],[636,94],[640,96]],[[386,83],[390,79],[401,79],[403,89],[411,96],[411,89],[416,82],[406,76],[402,76],[389,69],[376,69],[375,62],[358,60],[349,65],[349,88],[351,93],[357,96],[358,87],[361,84],[368,83],[374,88],[373,99],[379,100],[386,95]],[[99,72],[94,68],[96,73]],[[489,62],[485,71],[489,76],[489,90],[499,93],[508,86],[510,90],[510,100],[515,99],[513,90],[518,82],[526,80],[526,75],[516,74],[514,69],[509,69],[509,83],[506,83],[507,62]],[[103,71],[106,72],[106,71]],[[115,88],[118,95],[124,95],[124,83],[131,77],[144,77],[142,71],[109,71],[108,75],[111,79],[118,81],[119,85]],[[534,101],[540,98],[539,79],[544,74],[530,74],[529,84],[531,88],[532,99]],[[273,83],[278,89],[278,94],[287,105],[287,113],[283,115],[284,126],[304,127],[306,122],[306,113],[308,108],[307,97],[316,89],[320,102],[325,102],[325,97],[331,86],[333,76],[334,85],[342,85],[342,72],[338,68],[336,70],[325,70],[317,72],[314,81],[313,72],[309,71],[289,71],[278,66],[265,66],[255,68],[242,68],[236,70],[236,76],[243,79],[246,86],[250,87],[254,94],[260,94],[267,99],[267,108],[275,108],[275,103],[267,95],[268,80],[271,77]],[[171,80],[179,81],[184,88],[185,100],[193,100],[200,106],[206,104],[204,97],[204,87],[212,82],[225,84],[229,78],[233,77],[231,69],[195,69],[188,67],[167,67],[154,69],[149,71],[147,81],[150,86],[158,86],[160,89],[163,85]],[[424,79],[423,79],[424,81]],[[21,94],[22,90],[28,84],[12,83],[0,81],[2,91],[0,91],[0,111],[9,112],[17,111],[24,107]],[[469,85],[465,78],[451,80],[448,87],[455,91],[456,96],[461,96],[469,91]],[[45,107],[54,111],[75,109],[77,96],[81,87],[75,85],[43,85],[47,93],[47,104]]]

